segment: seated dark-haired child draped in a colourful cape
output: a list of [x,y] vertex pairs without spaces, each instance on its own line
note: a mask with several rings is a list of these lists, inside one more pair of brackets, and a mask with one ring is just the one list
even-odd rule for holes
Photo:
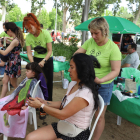
[[[32,62],[27,64],[27,78],[19,84],[11,95],[0,99],[0,133],[4,133],[9,137],[25,137],[26,122],[28,121],[27,95],[30,94],[32,96],[41,73],[42,70],[38,63]],[[40,86],[37,87],[37,95],[35,96],[44,99]]]

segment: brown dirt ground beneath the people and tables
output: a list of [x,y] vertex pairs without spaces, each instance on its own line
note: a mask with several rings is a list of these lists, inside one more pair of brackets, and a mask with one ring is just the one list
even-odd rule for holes
[[[25,69],[22,69],[22,76],[18,79],[18,83],[20,83],[25,78]],[[60,72],[54,73],[54,81],[61,80]],[[0,81],[2,85],[2,81]],[[0,86],[1,88],[1,86]],[[1,91],[1,89],[0,89]],[[13,89],[11,89],[8,94],[12,93]],[[65,95],[66,90],[62,88],[61,82],[56,82],[53,84],[53,100],[58,101],[61,100]],[[37,112],[37,125],[38,128],[43,127],[43,121],[39,119],[39,112]],[[140,127],[128,122],[125,119],[122,119],[121,126],[117,126],[117,115],[113,114],[110,111],[106,112],[105,115],[106,125],[104,132],[100,138],[100,140],[140,140]],[[57,122],[58,119],[47,115],[45,122],[47,124],[51,124],[52,122]],[[26,134],[34,131],[34,126],[28,124]],[[3,136],[0,136],[0,140],[3,140]],[[8,138],[8,140],[24,140],[22,138]]]

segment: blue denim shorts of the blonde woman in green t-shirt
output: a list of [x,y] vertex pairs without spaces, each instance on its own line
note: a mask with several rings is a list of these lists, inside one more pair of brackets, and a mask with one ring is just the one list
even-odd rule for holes
[[102,96],[105,105],[110,105],[114,81],[109,84],[101,84],[98,93]]

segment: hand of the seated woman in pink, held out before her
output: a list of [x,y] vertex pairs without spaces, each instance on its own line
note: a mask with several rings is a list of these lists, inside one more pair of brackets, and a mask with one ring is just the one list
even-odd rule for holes
[[30,97],[28,99],[28,105],[34,108],[40,108],[42,103],[38,99]]

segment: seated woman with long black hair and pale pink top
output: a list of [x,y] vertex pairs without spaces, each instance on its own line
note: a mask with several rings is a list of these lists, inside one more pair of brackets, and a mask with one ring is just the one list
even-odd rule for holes
[[90,119],[94,109],[98,107],[98,85],[94,82],[95,67],[99,68],[100,64],[94,56],[75,54],[68,70],[72,82],[62,101],[51,102],[40,98],[28,100],[29,106],[43,109],[60,121],[31,132],[26,140],[88,139]]

